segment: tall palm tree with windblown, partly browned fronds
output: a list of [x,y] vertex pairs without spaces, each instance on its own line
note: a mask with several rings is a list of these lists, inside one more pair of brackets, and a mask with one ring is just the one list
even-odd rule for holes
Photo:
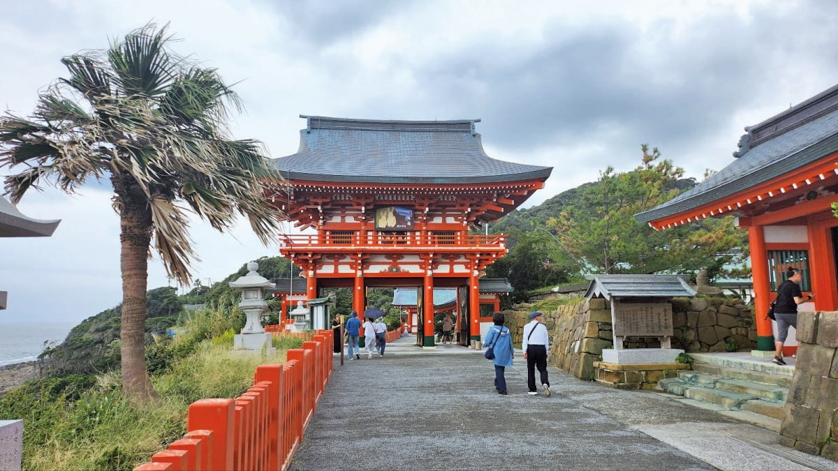
[[[228,106],[238,97],[214,69],[174,54],[167,26],[139,28],[108,49],[65,57],[70,77],[42,92],[29,118],[0,116],[5,194],[18,202],[52,181],[74,194],[110,179],[120,217],[122,386],[154,396],[145,364],[148,258],[153,243],[171,277],[189,285],[189,212],[216,230],[245,215],[263,244],[279,229],[271,195],[284,180],[261,142],[231,140]],[[17,173],[14,173],[17,172]],[[188,206],[188,208],[187,208]]]

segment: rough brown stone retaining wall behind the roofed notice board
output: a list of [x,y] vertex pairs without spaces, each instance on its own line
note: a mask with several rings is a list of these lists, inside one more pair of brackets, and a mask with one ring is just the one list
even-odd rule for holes
[[[520,348],[524,325],[532,304],[519,304],[505,311],[506,326]],[[675,298],[672,300],[675,336],[672,348],[687,352],[726,351],[732,339],[737,350],[756,348],[757,331],[753,313],[739,299]],[[603,298],[586,302],[569,300],[555,311],[542,311],[550,333],[551,365],[582,380],[594,379],[593,362],[602,360],[603,349],[613,347],[611,304]],[[626,348],[660,348],[658,339],[629,338]]]

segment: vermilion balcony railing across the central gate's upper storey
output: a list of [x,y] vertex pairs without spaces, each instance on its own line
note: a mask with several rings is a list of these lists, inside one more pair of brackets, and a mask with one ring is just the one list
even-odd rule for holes
[[280,248],[300,247],[381,247],[390,249],[393,246],[405,247],[434,247],[444,250],[449,247],[462,250],[463,247],[473,248],[505,248],[506,235],[439,235],[439,234],[388,234],[384,232],[367,232],[361,235],[332,234],[280,234]]

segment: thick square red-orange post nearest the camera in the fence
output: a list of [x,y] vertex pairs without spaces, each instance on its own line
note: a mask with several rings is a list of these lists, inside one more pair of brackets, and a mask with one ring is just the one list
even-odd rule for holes
[[232,399],[201,399],[189,406],[186,429],[213,431],[210,471],[233,468],[233,408]]

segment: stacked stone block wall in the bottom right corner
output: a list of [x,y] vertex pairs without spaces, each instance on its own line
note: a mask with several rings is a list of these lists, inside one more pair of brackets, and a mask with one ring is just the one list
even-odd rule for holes
[[838,312],[798,313],[797,341],[780,443],[838,461]]

